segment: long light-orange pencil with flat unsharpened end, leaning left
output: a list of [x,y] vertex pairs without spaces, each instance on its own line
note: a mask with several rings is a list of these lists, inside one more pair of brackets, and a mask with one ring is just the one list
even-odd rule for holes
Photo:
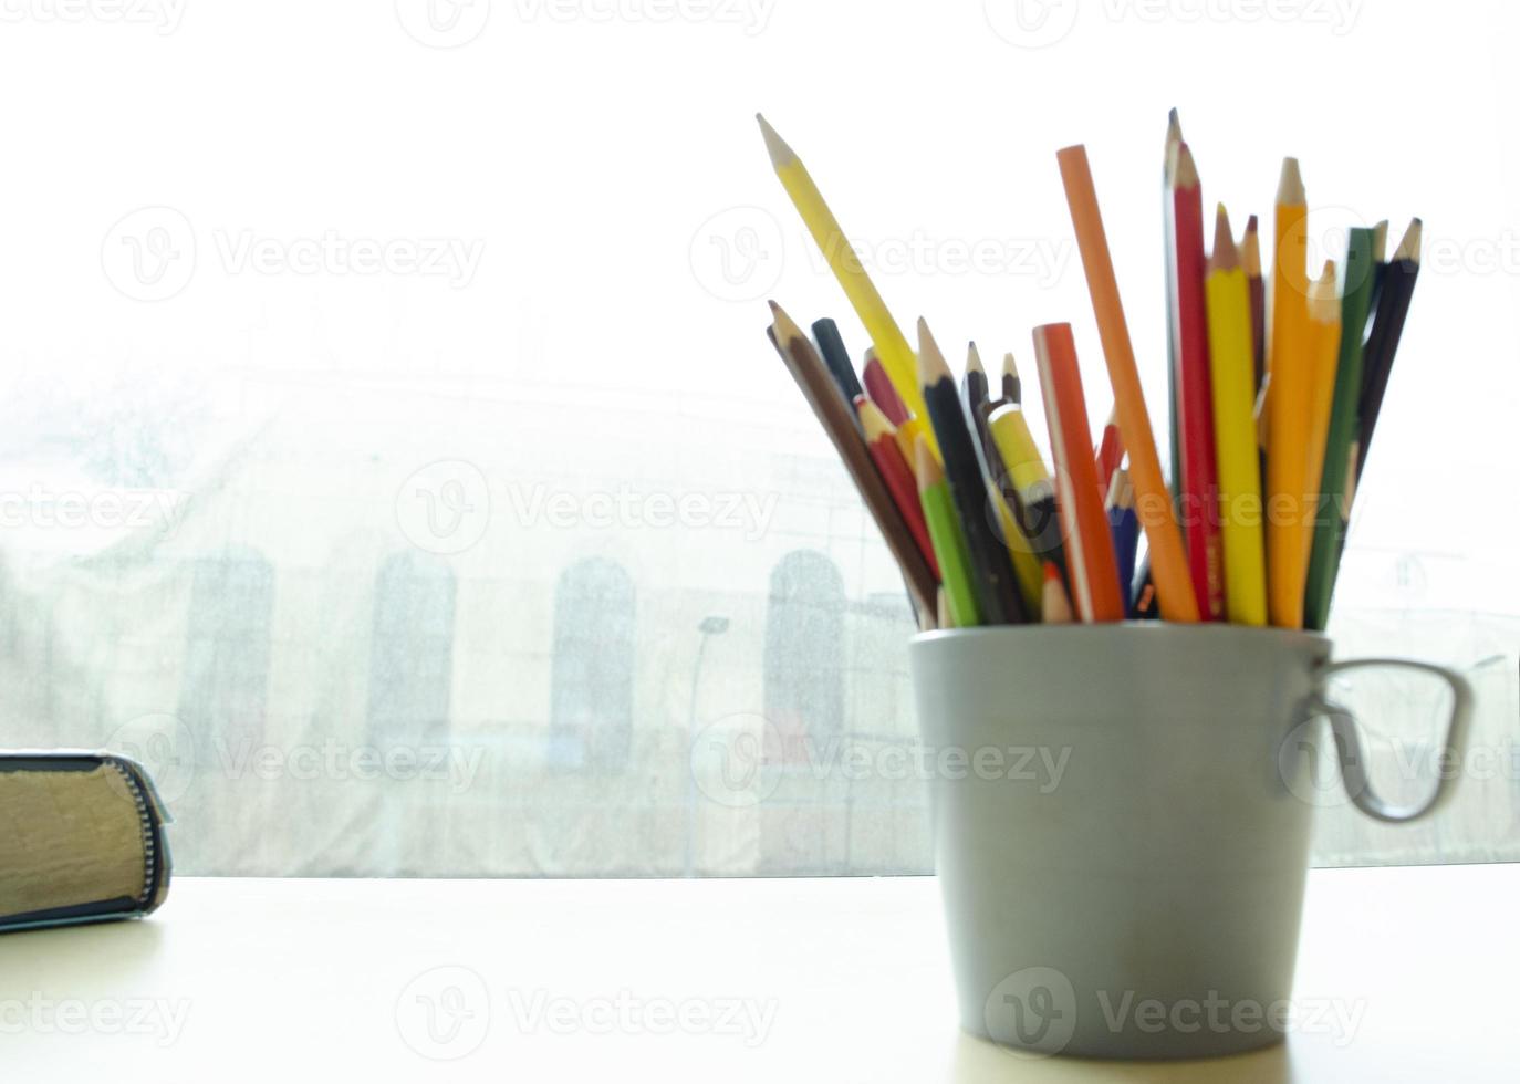
[[[1108,380],[1114,389],[1119,435],[1129,456],[1129,477],[1135,487],[1135,511],[1151,547],[1161,614],[1173,622],[1195,622],[1198,620],[1198,596],[1193,593],[1187,575],[1183,534],[1178,529],[1166,479],[1161,476],[1161,462],[1155,452],[1155,436],[1151,432],[1134,345],[1129,342],[1129,328],[1125,324],[1123,304],[1119,300],[1119,281],[1114,278],[1114,265],[1108,254],[1108,239],[1104,233],[1102,211],[1097,207],[1093,173],[1087,163],[1087,149],[1082,146],[1066,147],[1056,155],[1056,160],[1061,166],[1061,182],[1072,211],[1078,251],[1082,254],[1082,269],[1087,275],[1087,290],[1093,300],[1099,339],[1104,344]],[[1088,450],[1087,455],[1090,456],[1091,452]],[[1088,462],[1091,462],[1090,458]],[[1093,499],[1096,500],[1096,497],[1094,493]]]

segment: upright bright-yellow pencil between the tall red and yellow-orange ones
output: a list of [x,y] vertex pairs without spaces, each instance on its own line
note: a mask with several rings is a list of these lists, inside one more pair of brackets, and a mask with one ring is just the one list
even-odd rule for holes
[[1219,523],[1225,544],[1225,616],[1266,625],[1266,555],[1262,541],[1262,470],[1251,418],[1256,385],[1251,286],[1224,204],[1204,280],[1208,304],[1208,376],[1219,461]]

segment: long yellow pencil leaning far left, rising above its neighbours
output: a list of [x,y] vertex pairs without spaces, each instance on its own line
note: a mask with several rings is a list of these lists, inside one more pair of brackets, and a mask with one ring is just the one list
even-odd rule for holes
[[[792,198],[792,205],[803,216],[803,223],[813,234],[813,240],[818,242],[834,278],[839,280],[839,286],[844,287],[845,296],[854,306],[856,315],[865,324],[866,334],[871,336],[892,388],[901,397],[903,406],[918,418],[927,418],[924,394],[918,386],[918,362],[914,357],[914,348],[907,345],[903,330],[892,319],[892,313],[888,312],[886,303],[882,301],[871,277],[865,274],[865,268],[860,266],[859,257],[850,246],[850,239],[839,227],[839,219],[828,210],[824,195],[813,184],[813,178],[809,176],[807,167],[796,157],[796,152],[777,135],[765,117],[755,114],[755,120],[760,122],[760,132],[765,135],[766,151],[771,152],[775,175],[781,178],[781,187]],[[939,442],[935,439],[933,429],[924,426],[923,433],[938,456]]]

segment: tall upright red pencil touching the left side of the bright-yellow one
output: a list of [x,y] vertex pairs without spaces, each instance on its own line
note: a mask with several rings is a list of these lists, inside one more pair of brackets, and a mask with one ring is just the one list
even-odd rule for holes
[[1181,453],[1183,537],[1202,620],[1224,620],[1224,541],[1219,534],[1219,477],[1214,461],[1214,401],[1208,376],[1208,310],[1204,300],[1204,204],[1187,143],[1167,161],[1176,265],[1172,334],[1176,342],[1178,452]]

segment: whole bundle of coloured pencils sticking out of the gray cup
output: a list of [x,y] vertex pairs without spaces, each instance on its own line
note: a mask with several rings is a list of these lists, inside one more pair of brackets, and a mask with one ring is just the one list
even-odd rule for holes
[[[1202,182],[1173,109],[1163,155],[1170,482],[1163,474],[1087,151],[1056,161],[1113,388],[1094,445],[1070,324],[1034,328],[1050,462],[1014,354],[994,385],[973,342],[959,386],[929,324],[917,350],[801,160],[771,161],[869,336],[812,336],[774,301],[768,334],[897,558],[923,628],[1161,617],[1324,629],[1356,482],[1420,274],[1415,219],[1351,230],[1307,266],[1298,161],[1278,178],[1271,258]],[[1145,541],[1145,559],[1138,549]]]

